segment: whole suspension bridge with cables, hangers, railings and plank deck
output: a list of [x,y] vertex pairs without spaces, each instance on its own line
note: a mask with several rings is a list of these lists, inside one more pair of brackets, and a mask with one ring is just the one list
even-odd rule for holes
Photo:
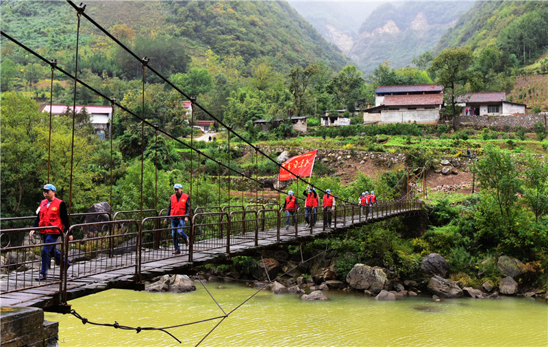
[[[218,117],[206,110],[205,107],[197,102],[197,99],[185,94],[175,86],[169,79],[158,73],[153,68],[153,62],[147,57],[140,57],[122,42],[116,39],[106,29],[101,27],[93,18],[90,18],[85,12],[85,5],[75,5],[72,1],[67,1],[77,15],[77,34],[79,34],[80,22],[86,18],[89,23],[95,25],[103,34],[108,36],[121,49],[127,51],[142,66],[142,114],[136,114],[128,110],[115,99],[102,94],[99,90],[92,88],[85,81],[78,77],[78,38],[75,42],[75,71],[72,75],[59,66],[55,59],[48,59],[38,54],[33,49],[25,46],[9,33],[1,31],[1,36],[14,42],[19,47],[25,49],[28,53],[34,55],[38,60],[51,67],[51,83],[55,72],[62,73],[73,80],[74,83],[74,101],[73,101],[73,139],[75,129],[75,110],[76,110],[76,86],[83,86],[99,97],[108,101],[112,106],[112,120],[114,124],[115,111],[127,112],[133,116],[141,125],[141,162],[144,162],[145,140],[144,129],[151,127],[156,136],[165,136],[169,140],[179,142],[182,146],[190,149],[190,196],[193,201],[199,192],[199,166],[201,157],[210,159],[221,168],[226,170],[228,179],[227,187],[228,201],[225,205],[219,202],[218,206],[196,207],[191,214],[188,214],[190,222],[184,227],[184,231],[190,237],[190,244],[183,246],[180,254],[173,254],[172,228],[165,227],[164,222],[169,220],[166,216],[166,210],[145,209],[143,206],[143,172],[141,168],[141,196],[140,209],[135,211],[118,211],[112,213],[98,214],[73,214],[71,213],[71,201],[73,194],[73,153],[74,144],[71,149],[71,166],[66,168],[71,172],[69,187],[69,198],[67,206],[71,218],[70,231],[74,235],[73,240],[69,240],[69,233],[65,231],[62,237],[55,243],[55,246],[62,254],[62,261],[55,264],[51,261],[51,268],[48,271],[45,281],[36,281],[38,277],[40,258],[40,249],[44,245],[41,240],[28,237],[30,230],[39,231],[42,228],[32,228],[32,222],[36,216],[25,216],[16,218],[2,218],[1,225],[1,255],[5,259],[1,265],[1,283],[0,294],[2,296],[2,305],[9,306],[32,306],[44,309],[52,309],[62,312],[68,312],[69,300],[79,298],[101,290],[108,290],[114,287],[134,288],[142,290],[144,281],[166,273],[173,272],[192,272],[195,266],[207,264],[220,259],[229,259],[236,255],[252,254],[260,248],[285,244],[291,242],[301,242],[311,237],[322,237],[332,233],[338,233],[349,227],[357,227],[365,223],[377,222],[386,218],[395,216],[412,216],[420,214],[423,211],[422,201],[417,199],[411,192],[413,179],[419,178],[415,173],[409,177],[408,190],[406,194],[398,200],[382,200],[369,207],[362,207],[351,201],[336,197],[338,205],[332,208],[319,207],[317,214],[318,222],[310,226],[305,222],[305,209],[299,208],[296,213],[296,220],[291,220],[289,227],[286,227],[286,211],[282,205],[256,204],[256,205],[230,205],[230,195],[234,189],[231,189],[231,175],[242,179],[242,186],[245,179],[255,184],[256,196],[258,196],[259,187],[277,190],[271,185],[258,178],[258,157],[268,159],[277,166],[282,166],[273,158],[264,153],[258,146],[251,144],[240,133],[234,131],[231,125],[223,123]],[[247,175],[245,172],[236,170],[230,164],[230,151],[227,151],[226,158],[210,157],[195,146],[195,139],[192,132],[190,144],[172,136],[164,129],[150,123],[145,119],[145,75],[146,73],[160,77],[167,86],[177,90],[182,97],[190,100],[192,103],[192,114],[190,115],[190,125],[195,123],[195,109],[201,110],[204,114],[214,119],[221,129],[227,133],[227,148],[231,148],[231,136],[238,138],[240,142],[245,142],[254,151],[256,157],[255,177]],[[53,98],[53,87],[50,89],[50,105]],[[51,107],[50,107],[50,125],[51,125]],[[189,126],[190,126],[189,125]],[[110,131],[110,206],[112,206],[112,129]],[[50,146],[51,150],[51,126],[50,126]],[[49,153],[50,157],[51,153]],[[194,159],[197,155],[197,164]],[[195,166],[196,165],[196,166]],[[294,175],[288,168],[283,168]],[[420,170],[419,170],[420,171]],[[197,175],[195,176],[195,173]],[[415,172],[410,171],[408,172]],[[422,179],[424,171],[422,170]],[[303,177],[295,175],[297,187],[299,181],[315,187]],[[48,159],[48,182],[50,179],[50,159]],[[193,185],[195,186],[193,187]],[[321,191],[318,187],[316,190]],[[155,191],[157,188],[155,189]],[[297,189],[297,191],[299,191]],[[423,190],[424,191],[424,190]],[[221,192],[221,180],[219,180],[219,196]],[[243,189],[242,189],[243,192]],[[277,192],[282,193],[281,190]],[[155,192],[155,201],[158,201]],[[412,198],[413,197],[413,198]],[[302,198],[299,198],[302,200]],[[243,198],[242,198],[243,201]],[[258,201],[258,198],[256,198]],[[278,200],[279,201],[279,198]],[[90,222],[93,217],[99,218],[101,222]],[[184,216],[182,216],[184,217]],[[90,219],[91,218],[91,219]],[[332,224],[328,220],[332,220]],[[51,227],[48,227],[51,229]],[[70,263],[70,266],[69,266]]]

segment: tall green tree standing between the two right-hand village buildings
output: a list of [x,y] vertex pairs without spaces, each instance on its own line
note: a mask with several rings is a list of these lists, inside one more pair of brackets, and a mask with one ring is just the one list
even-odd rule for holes
[[466,83],[474,84],[475,79],[479,79],[471,69],[472,62],[470,47],[445,49],[432,60],[429,68],[429,72],[436,75],[436,83],[443,86],[443,98],[446,105],[449,105],[453,129],[458,114],[458,99],[468,92]]

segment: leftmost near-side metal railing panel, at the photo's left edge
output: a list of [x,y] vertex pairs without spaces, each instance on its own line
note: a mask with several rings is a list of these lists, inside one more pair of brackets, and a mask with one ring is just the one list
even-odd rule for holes
[[[3,229],[2,233],[9,236],[11,240],[24,240],[25,235],[29,234],[29,231],[34,230],[34,235],[41,234],[40,231],[46,229],[56,229],[61,233],[59,227],[30,227],[30,228],[18,228],[18,229]],[[61,233],[62,235],[62,233]],[[12,292],[18,292],[34,287],[41,287],[44,285],[51,285],[52,283],[59,284],[59,291],[62,290],[62,271],[61,261],[64,255],[64,244],[62,237],[57,242],[50,243],[49,245],[58,248],[61,254],[60,259],[51,259],[47,257],[47,278],[48,281],[36,281],[36,278],[40,276],[40,266],[42,264],[42,246],[45,246],[45,237],[38,236],[36,244],[27,243],[19,245],[12,245],[1,248],[1,255],[3,261],[0,265],[0,273],[3,274],[2,281],[0,283],[0,292],[2,294],[8,294]],[[55,258],[55,257],[54,257]],[[53,279],[53,281],[51,281]],[[24,298],[21,298],[22,302],[25,302]]]

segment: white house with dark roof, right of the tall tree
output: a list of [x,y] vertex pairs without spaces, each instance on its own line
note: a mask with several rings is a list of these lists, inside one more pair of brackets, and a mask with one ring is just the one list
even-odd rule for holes
[[506,92],[469,93],[457,99],[462,116],[517,116],[525,114],[525,103],[506,101]]

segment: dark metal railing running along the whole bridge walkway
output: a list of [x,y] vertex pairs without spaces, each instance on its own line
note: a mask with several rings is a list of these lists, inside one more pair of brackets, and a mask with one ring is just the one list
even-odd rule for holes
[[[275,208],[265,208],[272,205]],[[337,205],[331,208],[299,207],[294,214],[277,208],[279,204],[232,205],[230,207],[197,207],[182,228],[188,235],[190,245],[179,236],[180,253],[174,253],[171,217],[162,216],[154,209],[145,211],[119,211],[110,220],[110,214],[73,214],[72,220],[84,221],[74,224],[53,245],[58,247],[61,261],[50,259],[47,281],[36,281],[41,264],[40,253],[45,244],[40,230],[55,227],[30,227],[36,216],[0,219],[1,293],[10,294],[34,287],[59,285],[59,298],[66,303],[71,280],[92,277],[112,270],[134,268],[133,281],[140,283],[142,264],[195,256],[208,250],[221,249],[227,257],[242,247],[258,246],[261,240],[295,237],[313,233],[318,229],[346,227],[356,222],[381,220],[408,211],[423,208],[422,201],[377,201],[375,205]],[[101,216],[104,215],[104,216]],[[145,217],[146,215],[146,217]],[[140,216],[143,216],[140,220]],[[121,220],[121,217],[129,217]],[[85,222],[105,218],[105,221]],[[308,221],[308,224],[306,223]],[[315,223],[314,223],[315,221]],[[34,237],[29,231],[35,230]],[[73,240],[69,240],[69,235]],[[69,263],[70,266],[64,266]]]

